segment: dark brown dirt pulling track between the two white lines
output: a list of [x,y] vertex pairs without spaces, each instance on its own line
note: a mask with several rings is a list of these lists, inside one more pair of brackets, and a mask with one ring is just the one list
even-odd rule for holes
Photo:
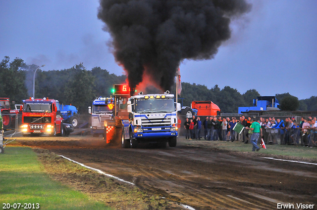
[[135,183],[196,210],[276,210],[277,203],[315,204],[317,166],[182,146],[121,149],[102,138],[18,137]]

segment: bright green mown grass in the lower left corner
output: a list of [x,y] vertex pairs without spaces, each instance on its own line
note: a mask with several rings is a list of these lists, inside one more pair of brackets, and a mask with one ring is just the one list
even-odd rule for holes
[[[6,147],[0,155],[0,205],[39,204],[41,210],[110,209],[87,195],[53,181],[29,147]],[[32,205],[33,207],[33,205]],[[38,205],[34,206],[37,209]],[[11,208],[13,209],[13,208]],[[20,209],[24,209],[21,208]]]

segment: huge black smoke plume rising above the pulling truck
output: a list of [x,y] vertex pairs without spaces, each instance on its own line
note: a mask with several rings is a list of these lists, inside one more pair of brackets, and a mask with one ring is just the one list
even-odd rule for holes
[[230,18],[250,9],[245,0],[100,0],[98,18],[130,86],[146,73],[166,90],[183,59],[213,58],[230,38]]

